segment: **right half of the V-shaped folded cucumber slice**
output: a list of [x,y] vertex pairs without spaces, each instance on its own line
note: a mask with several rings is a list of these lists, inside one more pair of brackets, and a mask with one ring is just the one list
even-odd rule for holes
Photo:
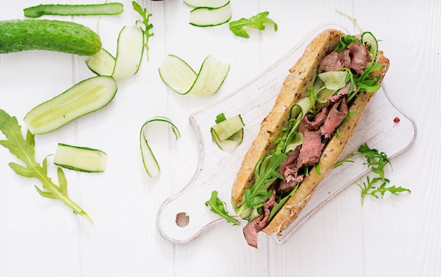
[[216,94],[230,71],[230,64],[223,63],[212,55],[205,58],[189,94],[200,96]]

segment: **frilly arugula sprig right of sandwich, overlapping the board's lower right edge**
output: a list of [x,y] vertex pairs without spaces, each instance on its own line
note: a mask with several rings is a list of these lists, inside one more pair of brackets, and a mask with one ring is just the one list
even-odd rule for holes
[[[337,163],[334,167],[338,167],[342,165],[344,162],[354,162],[352,161],[352,157],[356,155],[361,155],[366,158],[365,165],[371,168],[372,172],[377,174],[378,176],[371,179],[369,176],[366,177],[366,181],[363,184],[356,183],[359,188],[361,188],[361,205],[364,204],[364,198],[366,195],[371,195],[375,198],[378,198],[378,194],[381,195],[381,198],[385,195],[386,192],[390,192],[394,195],[398,195],[402,192],[411,192],[408,188],[402,188],[401,186],[386,186],[387,183],[390,183],[389,179],[385,178],[385,166],[390,165],[390,160],[387,157],[386,153],[378,152],[377,149],[370,148],[367,143],[364,143],[359,147],[359,149],[349,155],[346,159]],[[376,186],[376,184],[380,182],[380,186]]]

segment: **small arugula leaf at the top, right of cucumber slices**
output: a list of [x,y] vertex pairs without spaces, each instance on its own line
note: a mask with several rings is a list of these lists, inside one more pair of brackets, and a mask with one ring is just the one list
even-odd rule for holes
[[237,37],[249,38],[249,34],[244,27],[253,27],[258,30],[265,30],[265,24],[273,24],[274,30],[277,31],[277,24],[268,18],[268,11],[264,11],[262,13],[258,13],[256,15],[251,16],[251,18],[240,18],[239,20],[231,21],[229,23],[230,30]]

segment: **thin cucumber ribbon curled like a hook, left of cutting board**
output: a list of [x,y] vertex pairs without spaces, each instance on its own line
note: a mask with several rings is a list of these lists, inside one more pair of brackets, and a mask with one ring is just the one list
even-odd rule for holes
[[180,138],[180,132],[175,124],[173,124],[173,122],[171,122],[171,120],[169,120],[167,117],[153,117],[150,120],[144,122],[144,124],[142,125],[141,131],[139,132],[139,143],[141,148],[142,162],[144,164],[144,169],[146,170],[147,174],[151,177],[154,177],[161,173],[161,168],[159,167],[159,163],[156,160],[153,151],[151,151],[149,143],[147,142],[147,124],[151,122],[166,122],[170,124],[176,139]]

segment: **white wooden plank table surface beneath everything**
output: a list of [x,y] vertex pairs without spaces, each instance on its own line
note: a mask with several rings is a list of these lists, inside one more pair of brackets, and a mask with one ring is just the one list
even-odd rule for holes
[[[131,1],[120,2],[125,5],[122,15],[45,18],[87,25],[115,53],[121,27],[139,19]],[[27,6],[56,3],[99,1],[4,1],[0,20],[24,18]],[[268,25],[263,32],[250,30],[249,39],[235,37],[228,25],[189,25],[190,8],[182,1],[139,4],[152,13],[149,60],[143,60],[137,75],[118,82],[116,98],[106,108],[36,136],[40,161],[53,154],[59,142],[108,154],[104,173],[65,170],[70,198],[94,225],[61,202],[40,197],[33,188],[39,183],[16,175],[8,162],[17,160],[0,148],[0,276],[440,276],[438,1],[232,0],[233,20],[269,11],[278,23],[277,32]],[[349,186],[284,243],[259,235],[258,250],[246,244],[244,224],[224,221],[187,243],[171,243],[161,236],[156,222],[161,205],[201,170],[190,115],[265,72],[314,28],[333,23],[356,32],[353,22],[336,10],[354,16],[364,30],[381,39],[380,49],[390,58],[387,92],[416,123],[418,134],[409,148],[392,158],[393,170],[388,168],[386,174],[391,184],[410,188],[411,193],[366,198],[362,206],[359,188]],[[230,63],[230,73],[218,94],[180,96],[159,77],[158,67],[169,53],[196,70],[213,54]],[[0,54],[0,108],[23,124],[25,113],[35,105],[93,76],[84,60],[49,51]],[[142,167],[138,136],[142,123],[156,115],[173,120],[182,137],[175,141],[167,127],[154,134],[151,144],[162,172],[150,178]],[[230,184],[211,186],[228,192]],[[203,202],[200,206],[206,209]]]

